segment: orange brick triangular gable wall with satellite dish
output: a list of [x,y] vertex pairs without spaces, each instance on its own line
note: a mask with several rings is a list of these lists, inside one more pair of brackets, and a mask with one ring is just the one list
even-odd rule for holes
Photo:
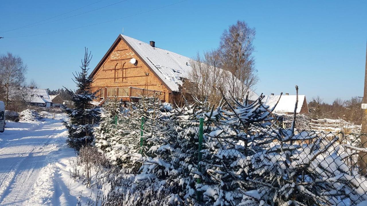
[[[138,60],[137,65],[130,63],[132,58]],[[92,91],[105,87],[138,87],[166,92],[166,101],[172,92],[121,35],[90,75],[94,78]]]

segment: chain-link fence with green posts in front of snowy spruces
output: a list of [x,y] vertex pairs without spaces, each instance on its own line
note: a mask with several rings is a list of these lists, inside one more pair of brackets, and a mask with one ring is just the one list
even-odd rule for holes
[[364,134],[239,131],[203,119],[174,127],[176,147],[185,150],[174,155],[181,166],[195,166],[187,174],[195,178],[199,204],[218,205],[223,196],[238,205],[367,205]]

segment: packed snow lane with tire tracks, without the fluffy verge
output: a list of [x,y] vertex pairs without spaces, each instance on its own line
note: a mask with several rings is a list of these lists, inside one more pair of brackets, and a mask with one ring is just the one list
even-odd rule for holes
[[[43,124],[42,127],[34,126],[32,131],[27,131],[29,134],[17,141],[21,141],[25,138],[26,144],[19,145],[20,150],[17,153],[9,151],[6,153],[6,158],[0,157],[1,160],[6,161],[7,158],[20,159],[20,161],[15,161],[15,163],[8,164],[8,168],[1,174],[1,185],[0,185],[0,205],[11,204],[11,205],[22,205],[27,197],[29,197],[31,188],[33,188],[34,183],[37,180],[38,173],[41,168],[47,163],[46,155],[52,151],[54,146],[49,144],[52,140],[55,141],[58,134],[51,135],[58,129],[64,129],[60,125],[59,121],[51,121]],[[39,129],[39,130],[36,130]],[[45,131],[47,130],[47,131]],[[22,131],[19,131],[22,132]],[[24,131],[23,131],[24,132]],[[37,133],[48,133],[48,135],[37,136]],[[12,134],[16,135],[16,134]],[[32,140],[33,137],[33,140]],[[37,138],[35,138],[37,137]],[[53,138],[52,138],[53,137]],[[5,148],[0,149],[0,154],[4,154],[9,150],[11,146],[17,146],[17,141],[15,144],[8,143]],[[33,145],[32,145],[33,143]],[[32,147],[30,150],[25,150],[25,148]],[[22,150],[23,149],[23,150]],[[19,153],[23,155],[19,155]],[[28,155],[26,155],[28,154]],[[7,161],[6,163],[9,163]],[[6,166],[6,165],[4,165]],[[4,175],[5,174],[5,175]],[[4,177],[5,176],[5,177]]]

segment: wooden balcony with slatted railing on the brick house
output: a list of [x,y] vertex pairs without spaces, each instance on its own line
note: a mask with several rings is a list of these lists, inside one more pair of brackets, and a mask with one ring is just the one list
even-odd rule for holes
[[141,96],[157,96],[162,102],[166,102],[166,92],[136,87],[105,87],[99,90],[98,96],[100,101],[115,96],[123,101],[138,100]]

